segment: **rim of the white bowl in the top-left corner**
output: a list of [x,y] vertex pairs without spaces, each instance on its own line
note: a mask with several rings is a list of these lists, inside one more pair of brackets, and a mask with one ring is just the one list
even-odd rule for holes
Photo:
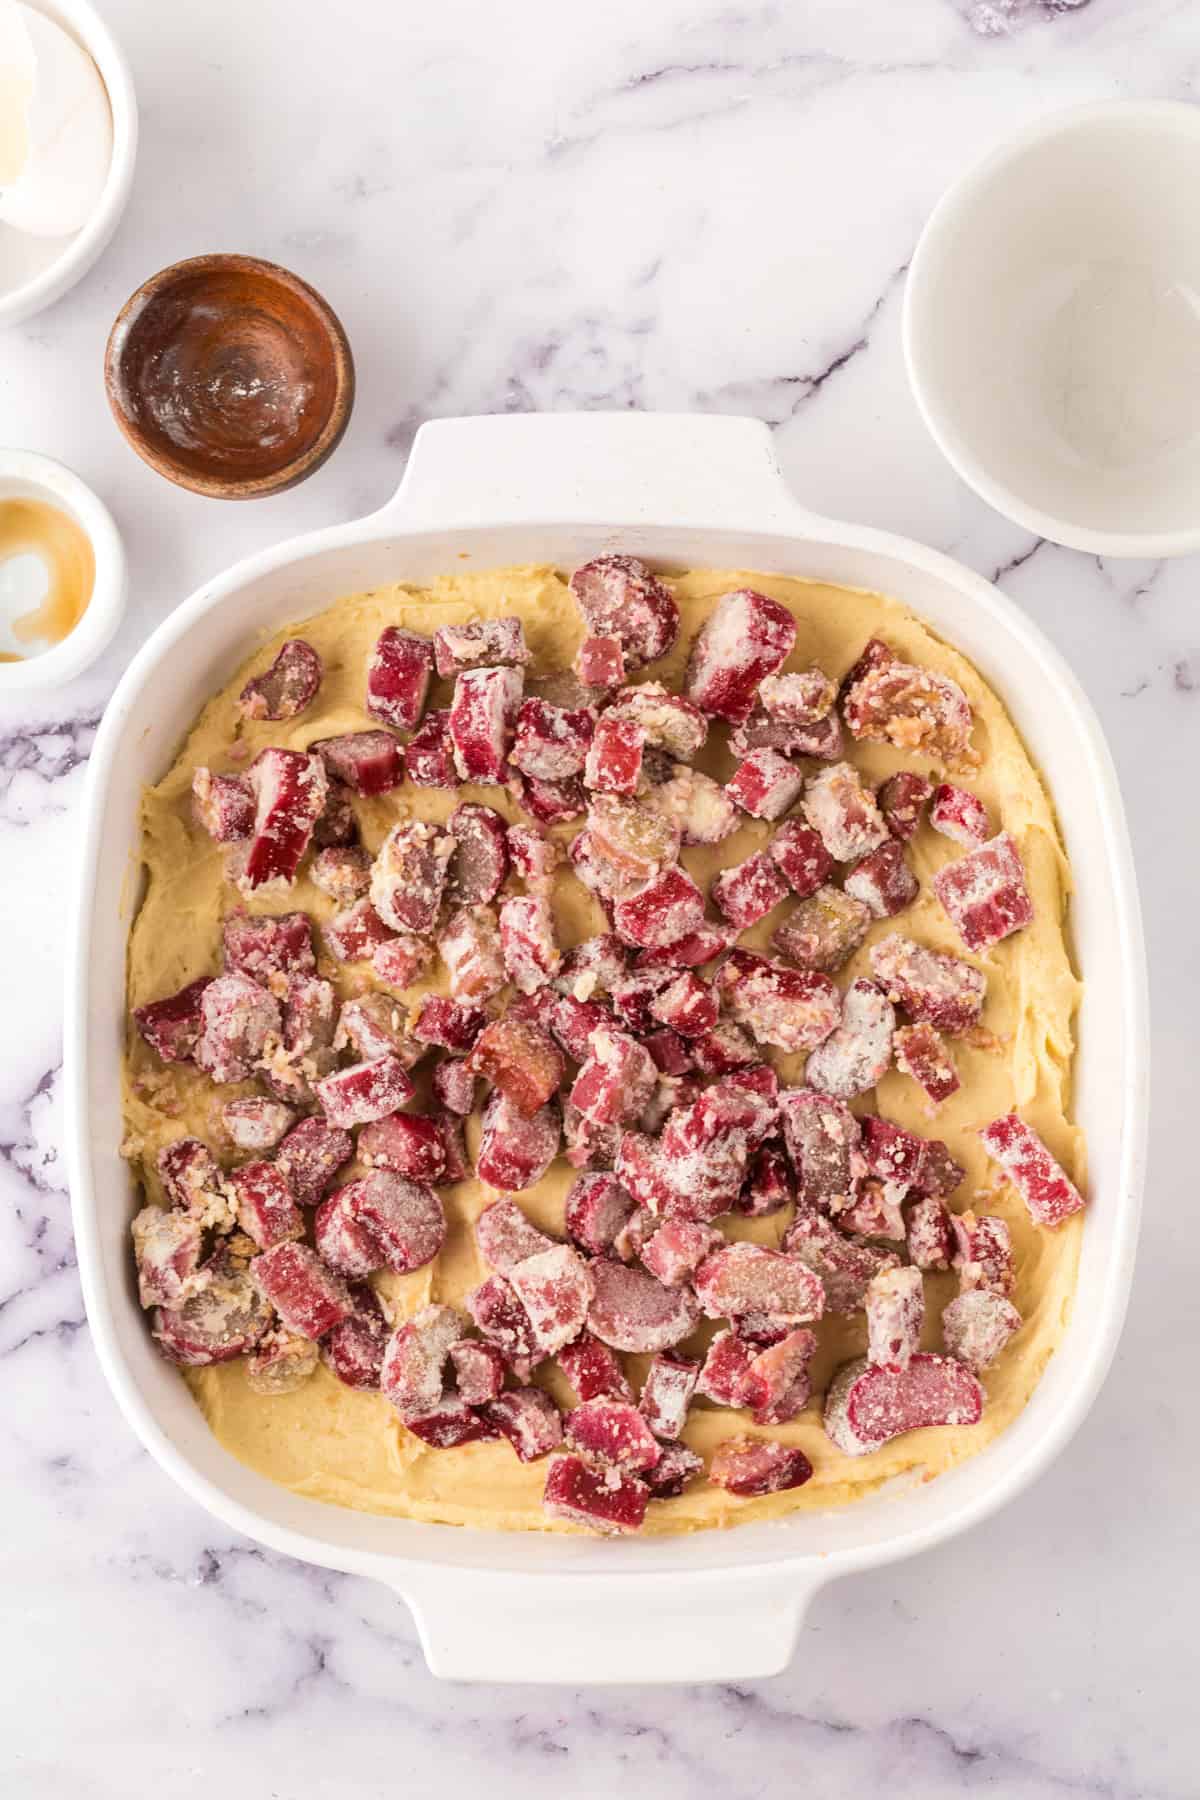
[[86,275],[121,223],[137,162],[133,72],[110,27],[90,0],[29,0],[29,4],[77,38],[99,68],[108,88],[108,106],[113,119],[113,157],[95,212],[74,238],[67,239],[63,254],[18,288],[0,292],[0,326],[14,326],[22,319],[32,319],[34,313],[52,306]]

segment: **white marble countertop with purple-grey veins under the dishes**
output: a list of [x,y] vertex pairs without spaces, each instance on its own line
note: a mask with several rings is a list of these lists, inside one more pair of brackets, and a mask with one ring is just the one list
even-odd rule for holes
[[[1186,0],[103,0],[142,104],[92,275],[0,333],[0,436],[77,468],[126,535],[103,666],[0,702],[0,1786],[13,1800],[1196,1795],[1198,562],[1009,526],[919,425],[900,355],[946,182],[1049,108],[1193,101]],[[221,506],[119,439],[108,324],[201,250],[291,265],[360,396],[327,468]],[[525,409],[750,412],[819,511],[923,538],[1038,617],[1099,709],[1142,878],[1155,1123],[1139,1276],[1090,1418],[946,1548],[828,1588],[775,1681],[455,1688],[381,1588],[230,1537],[135,1444],[83,1316],[61,1161],[59,979],[83,767],[130,653],[203,576],[378,506],[416,427]],[[1187,900],[1187,895],[1193,900]],[[1180,1298],[1182,1296],[1182,1298]],[[1189,1377],[1191,1379],[1191,1377]],[[635,1625],[637,1622],[631,1620]]]

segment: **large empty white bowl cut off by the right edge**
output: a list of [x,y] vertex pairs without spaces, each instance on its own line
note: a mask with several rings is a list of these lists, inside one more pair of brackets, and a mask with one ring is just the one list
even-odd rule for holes
[[1103,556],[1200,549],[1200,110],[1038,121],[936,207],[909,378],[997,511]]

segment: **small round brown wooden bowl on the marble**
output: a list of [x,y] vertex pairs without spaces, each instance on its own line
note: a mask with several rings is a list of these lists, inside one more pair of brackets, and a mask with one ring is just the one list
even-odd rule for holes
[[194,256],[151,275],[104,351],[117,425],[142,461],[194,493],[254,500],[336,448],[354,360],[333,308],[254,256]]

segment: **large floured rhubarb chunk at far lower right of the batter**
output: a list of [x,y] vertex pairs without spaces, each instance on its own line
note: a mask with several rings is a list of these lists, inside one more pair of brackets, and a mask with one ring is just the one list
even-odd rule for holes
[[907,1368],[847,1363],[826,1395],[826,1433],[846,1456],[869,1456],[925,1426],[977,1426],[984,1390],[964,1363],[919,1352]]

